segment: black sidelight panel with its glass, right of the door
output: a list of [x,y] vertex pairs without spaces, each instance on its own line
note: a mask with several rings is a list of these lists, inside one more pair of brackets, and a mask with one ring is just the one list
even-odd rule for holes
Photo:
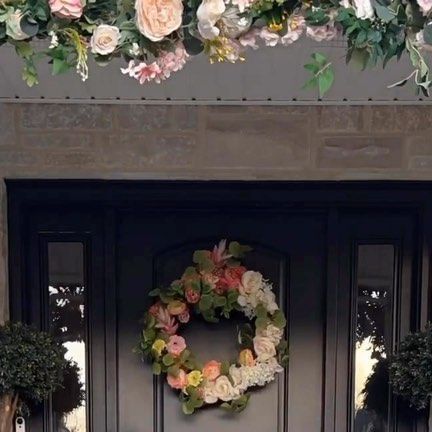
[[336,430],[414,430],[415,413],[391,396],[387,362],[415,316],[415,226],[404,211],[341,215]]

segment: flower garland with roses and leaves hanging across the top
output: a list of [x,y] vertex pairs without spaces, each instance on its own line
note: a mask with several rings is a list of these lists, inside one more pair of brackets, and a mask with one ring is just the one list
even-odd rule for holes
[[[201,52],[234,63],[247,48],[345,35],[347,61],[363,68],[407,52],[413,71],[394,85],[412,79],[428,94],[431,16],[432,0],[0,0],[0,45],[15,46],[30,86],[41,57],[54,75],[75,68],[86,80],[89,55],[102,65],[123,57],[122,72],[143,84],[166,80]],[[35,52],[34,38],[50,39],[48,49]],[[306,87],[328,91],[331,63],[315,53],[305,68]]]

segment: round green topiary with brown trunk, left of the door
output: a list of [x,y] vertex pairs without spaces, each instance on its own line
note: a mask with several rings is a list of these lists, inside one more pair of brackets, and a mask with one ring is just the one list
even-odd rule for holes
[[21,323],[0,326],[0,432],[11,432],[17,410],[46,399],[63,382],[64,348]]

